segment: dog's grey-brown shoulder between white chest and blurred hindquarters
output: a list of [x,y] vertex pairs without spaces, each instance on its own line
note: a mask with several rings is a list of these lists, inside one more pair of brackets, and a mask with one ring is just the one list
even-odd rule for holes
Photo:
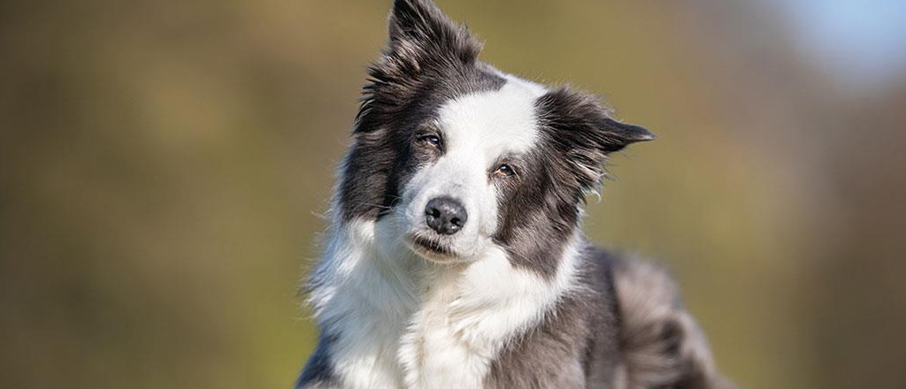
[[619,363],[619,312],[613,270],[619,254],[592,246],[580,251],[573,285],[537,327],[501,350],[486,388],[584,388],[591,372],[612,382]]

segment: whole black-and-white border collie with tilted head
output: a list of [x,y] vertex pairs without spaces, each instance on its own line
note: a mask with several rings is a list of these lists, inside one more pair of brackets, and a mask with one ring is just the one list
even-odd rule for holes
[[477,60],[396,0],[305,290],[299,389],[730,388],[660,267],[581,232],[607,157],[649,131]]

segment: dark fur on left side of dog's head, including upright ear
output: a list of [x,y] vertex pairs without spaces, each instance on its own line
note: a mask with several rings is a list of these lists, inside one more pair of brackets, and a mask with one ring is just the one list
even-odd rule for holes
[[412,147],[412,135],[448,100],[499,90],[506,81],[477,62],[481,45],[437,6],[395,2],[390,43],[371,65],[339,187],[342,222],[375,220],[400,198],[418,166],[436,154]]

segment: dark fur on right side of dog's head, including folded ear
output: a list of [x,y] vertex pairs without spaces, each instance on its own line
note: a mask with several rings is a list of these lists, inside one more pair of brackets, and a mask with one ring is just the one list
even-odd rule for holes
[[541,138],[518,184],[498,199],[494,239],[514,265],[550,278],[579,227],[585,194],[600,183],[607,155],[653,137],[610,119],[593,97],[568,89],[542,96],[535,109]]

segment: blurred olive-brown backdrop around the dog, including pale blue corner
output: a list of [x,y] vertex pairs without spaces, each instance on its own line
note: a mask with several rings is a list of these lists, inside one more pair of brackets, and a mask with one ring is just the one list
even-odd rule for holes
[[[594,242],[747,388],[906,387],[906,4],[441,0],[659,136]],[[389,0],[0,2],[0,387],[289,388]]]

